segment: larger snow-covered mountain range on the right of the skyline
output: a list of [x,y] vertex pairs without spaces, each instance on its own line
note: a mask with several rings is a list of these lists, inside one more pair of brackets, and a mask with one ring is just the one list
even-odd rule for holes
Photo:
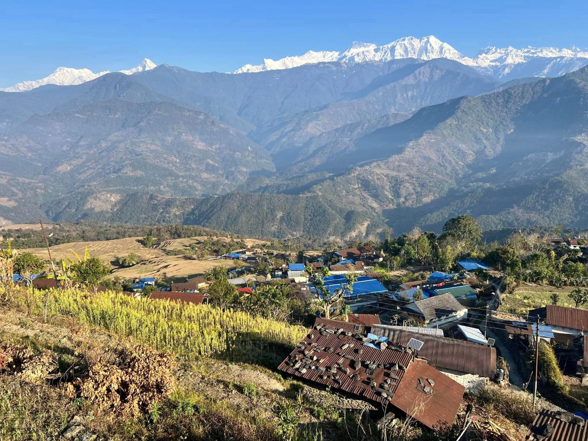
[[353,64],[370,61],[386,62],[399,58],[423,60],[447,58],[507,81],[515,76],[517,78],[560,76],[575,71],[588,64],[588,49],[579,49],[575,46],[570,49],[533,48],[531,46],[522,49],[515,49],[512,46],[508,48],[487,47],[480,49],[474,58],[469,58],[435,36],[429,35],[421,39],[408,36],[383,46],[354,41],[344,52],[308,51],[304,55],[288,56],[279,60],[266,58],[263,60],[263,64],[246,64],[234,73],[289,69],[319,62],[339,61]]

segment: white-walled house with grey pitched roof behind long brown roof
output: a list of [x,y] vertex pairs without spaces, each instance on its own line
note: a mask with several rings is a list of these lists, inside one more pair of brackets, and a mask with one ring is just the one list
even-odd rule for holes
[[467,317],[467,308],[450,293],[401,305],[406,318],[425,323],[427,327],[443,326]]

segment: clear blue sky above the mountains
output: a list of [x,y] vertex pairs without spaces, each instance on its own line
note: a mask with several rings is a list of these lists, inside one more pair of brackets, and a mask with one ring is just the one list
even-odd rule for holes
[[587,17],[586,0],[3,0],[0,87],[58,66],[115,71],[145,57],[227,72],[264,57],[342,51],[353,40],[381,45],[407,35],[435,35],[469,56],[489,45],[587,47]]

